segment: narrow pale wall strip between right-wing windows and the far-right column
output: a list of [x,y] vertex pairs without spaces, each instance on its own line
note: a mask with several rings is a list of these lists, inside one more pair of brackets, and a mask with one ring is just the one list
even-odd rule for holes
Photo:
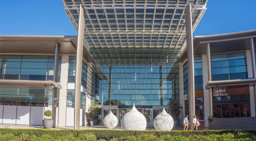
[[[246,50],[246,63],[247,63],[247,72],[248,72],[248,79],[253,78],[252,75],[252,57],[251,51]],[[250,87],[250,109],[251,109],[251,116],[255,117],[255,101],[254,101],[254,88],[253,85],[249,85]]]

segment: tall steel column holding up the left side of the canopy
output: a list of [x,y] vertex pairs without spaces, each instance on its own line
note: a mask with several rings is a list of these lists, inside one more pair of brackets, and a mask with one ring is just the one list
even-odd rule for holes
[[77,29],[77,52],[76,52],[76,66],[75,66],[75,97],[74,97],[74,129],[79,129],[80,116],[80,94],[81,94],[81,73],[83,61],[83,38],[84,38],[84,12],[83,6],[80,4],[79,21]]

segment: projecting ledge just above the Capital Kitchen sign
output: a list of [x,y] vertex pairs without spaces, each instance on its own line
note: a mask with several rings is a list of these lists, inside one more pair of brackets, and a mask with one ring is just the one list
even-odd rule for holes
[[235,79],[235,80],[221,80],[221,81],[208,81],[205,89],[219,86],[234,86],[234,85],[248,85],[256,84],[256,79]]

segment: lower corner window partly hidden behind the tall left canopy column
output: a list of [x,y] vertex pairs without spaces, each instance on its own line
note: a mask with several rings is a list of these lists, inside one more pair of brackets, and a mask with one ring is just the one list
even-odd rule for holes
[[[75,90],[67,90],[67,107],[74,108],[74,95]],[[81,92],[80,94],[80,108],[85,109],[86,94]]]

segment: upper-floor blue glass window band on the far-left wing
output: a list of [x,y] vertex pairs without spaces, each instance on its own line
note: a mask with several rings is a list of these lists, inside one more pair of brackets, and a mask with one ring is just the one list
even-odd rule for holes
[[[58,75],[60,69],[61,57],[59,57]],[[0,56],[0,79],[53,81],[53,73],[54,56]]]

